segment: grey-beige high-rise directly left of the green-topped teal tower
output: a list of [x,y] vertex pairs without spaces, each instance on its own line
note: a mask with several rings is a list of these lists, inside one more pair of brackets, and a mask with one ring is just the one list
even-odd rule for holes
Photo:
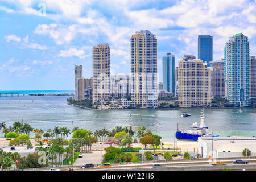
[[225,97],[224,61],[210,61],[207,65],[212,71],[212,96]]

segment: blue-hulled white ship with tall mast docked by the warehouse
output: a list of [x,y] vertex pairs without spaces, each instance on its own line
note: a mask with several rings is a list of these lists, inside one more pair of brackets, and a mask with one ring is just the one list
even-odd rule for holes
[[201,111],[201,121],[200,125],[197,125],[197,122],[193,123],[188,131],[177,131],[175,136],[178,140],[192,140],[197,141],[199,137],[208,137],[212,134],[212,131],[205,126],[204,123],[204,109]]

